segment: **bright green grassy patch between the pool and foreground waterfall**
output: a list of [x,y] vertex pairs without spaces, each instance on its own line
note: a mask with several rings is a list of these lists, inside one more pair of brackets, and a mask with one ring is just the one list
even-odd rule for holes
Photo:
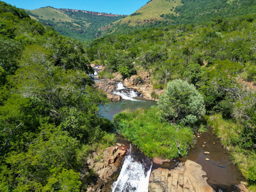
[[[117,131],[140,147],[148,157],[173,159],[179,156],[179,150],[181,156],[186,156],[189,146],[193,143],[191,129],[161,122],[156,113],[157,108],[122,112],[114,117],[114,123]],[[179,150],[176,140],[180,145]]]

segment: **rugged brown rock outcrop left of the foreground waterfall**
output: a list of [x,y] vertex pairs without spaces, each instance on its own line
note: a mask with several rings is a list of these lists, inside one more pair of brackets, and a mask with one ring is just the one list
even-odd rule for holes
[[[111,182],[111,179],[116,175],[118,167],[115,162],[118,157],[125,156],[127,153],[126,146],[115,145],[106,148],[102,154],[93,153],[92,156],[88,157],[86,163],[88,168],[93,169],[94,172],[99,176],[97,184],[87,189],[90,191],[99,191],[99,189],[106,183]],[[97,159],[100,159],[97,161]]]

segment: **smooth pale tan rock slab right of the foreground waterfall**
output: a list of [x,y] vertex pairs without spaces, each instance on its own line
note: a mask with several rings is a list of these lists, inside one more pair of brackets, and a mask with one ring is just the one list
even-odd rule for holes
[[149,192],[214,192],[206,182],[207,178],[202,177],[206,173],[202,166],[193,161],[179,163],[173,170],[158,168],[154,170],[149,179]]

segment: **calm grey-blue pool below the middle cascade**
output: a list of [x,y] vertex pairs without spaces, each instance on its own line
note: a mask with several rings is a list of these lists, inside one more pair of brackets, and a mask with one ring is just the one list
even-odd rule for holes
[[156,105],[156,101],[153,100],[141,100],[141,98],[135,98],[136,100],[121,100],[120,102],[109,102],[105,106],[100,106],[99,115],[108,118],[113,121],[113,117],[123,111],[124,109],[137,109],[137,108],[150,108]]

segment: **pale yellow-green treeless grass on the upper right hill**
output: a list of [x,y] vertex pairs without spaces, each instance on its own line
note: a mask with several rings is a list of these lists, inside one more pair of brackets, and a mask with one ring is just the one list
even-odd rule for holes
[[[134,26],[143,23],[144,20],[163,20],[163,17],[160,17],[162,14],[173,13],[174,15],[178,15],[179,13],[176,14],[174,10],[175,7],[181,4],[181,0],[171,0],[170,2],[166,0],[153,0],[135,12],[141,13],[141,15],[129,15],[128,17],[125,17],[125,19],[116,22],[120,22],[120,24],[129,23],[129,25]],[[171,9],[173,10],[171,11]]]

